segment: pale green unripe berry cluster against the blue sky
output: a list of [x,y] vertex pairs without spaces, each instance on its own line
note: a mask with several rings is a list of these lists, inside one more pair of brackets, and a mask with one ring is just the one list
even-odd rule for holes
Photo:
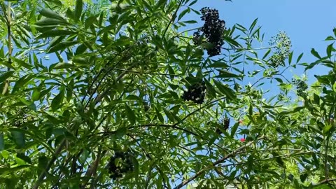
[[277,67],[285,64],[285,59],[290,54],[292,42],[287,34],[280,31],[275,37],[273,36],[269,45],[276,45],[274,54],[269,58],[270,66]]

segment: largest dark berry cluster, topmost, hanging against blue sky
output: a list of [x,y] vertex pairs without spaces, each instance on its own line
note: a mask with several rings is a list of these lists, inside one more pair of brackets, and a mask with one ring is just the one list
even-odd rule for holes
[[[219,19],[218,10],[204,7],[201,10],[201,19],[204,20],[204,25],[194,33],[193,41],[196,45],[202,43],[202,37],[205,36],[207,43],[211,47],[205,48],[209,56],[221,54],[221,46],[224,44],[222,35],[225,31],[225,21]],[[203,33],[201,35],[201,32]]]

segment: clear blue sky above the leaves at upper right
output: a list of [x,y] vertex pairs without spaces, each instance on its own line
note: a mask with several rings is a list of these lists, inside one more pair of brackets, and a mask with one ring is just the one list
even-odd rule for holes
[[[321,56],[326,55],[325,49],[332,41],[324,39],[332,35],[332,29],[336,27],[335,0],[199,0],[193,8],[200,10],[204,6],[218,9],[226,27],[236,23],[249,27],[258,18],[257,26],[262,26],[261,31],[265,33],[265,45],[278,31],[286,31],[293,45],[293,61],[301,52],[304,56],[300,62],[316,61],[310,55],[311,48],[315,48]],[[188,18],[200,21],[198,15],[190,14]],[[321,68],[324,67],[307,71],[309,83],[315,80],[314,74],[325,73],[326,70]],[[303,67],[293,73],[301,76]]]

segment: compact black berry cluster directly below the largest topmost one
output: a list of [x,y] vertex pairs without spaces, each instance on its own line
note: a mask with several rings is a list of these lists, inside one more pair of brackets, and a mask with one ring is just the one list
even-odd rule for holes
[[204,80],[200,83],[196,83],[188,87],[187,91],[184,91],[182,99],[185,101],[193,101],[196,104],[203,104],[206,90]]

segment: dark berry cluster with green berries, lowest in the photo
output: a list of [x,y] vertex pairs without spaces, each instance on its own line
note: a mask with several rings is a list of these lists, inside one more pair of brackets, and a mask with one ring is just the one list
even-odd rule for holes
[[113,180],[123,177],[123,174],[134,170],[131,155],[128,152],[116,151],[114,156],[110,158],[109,174]]

